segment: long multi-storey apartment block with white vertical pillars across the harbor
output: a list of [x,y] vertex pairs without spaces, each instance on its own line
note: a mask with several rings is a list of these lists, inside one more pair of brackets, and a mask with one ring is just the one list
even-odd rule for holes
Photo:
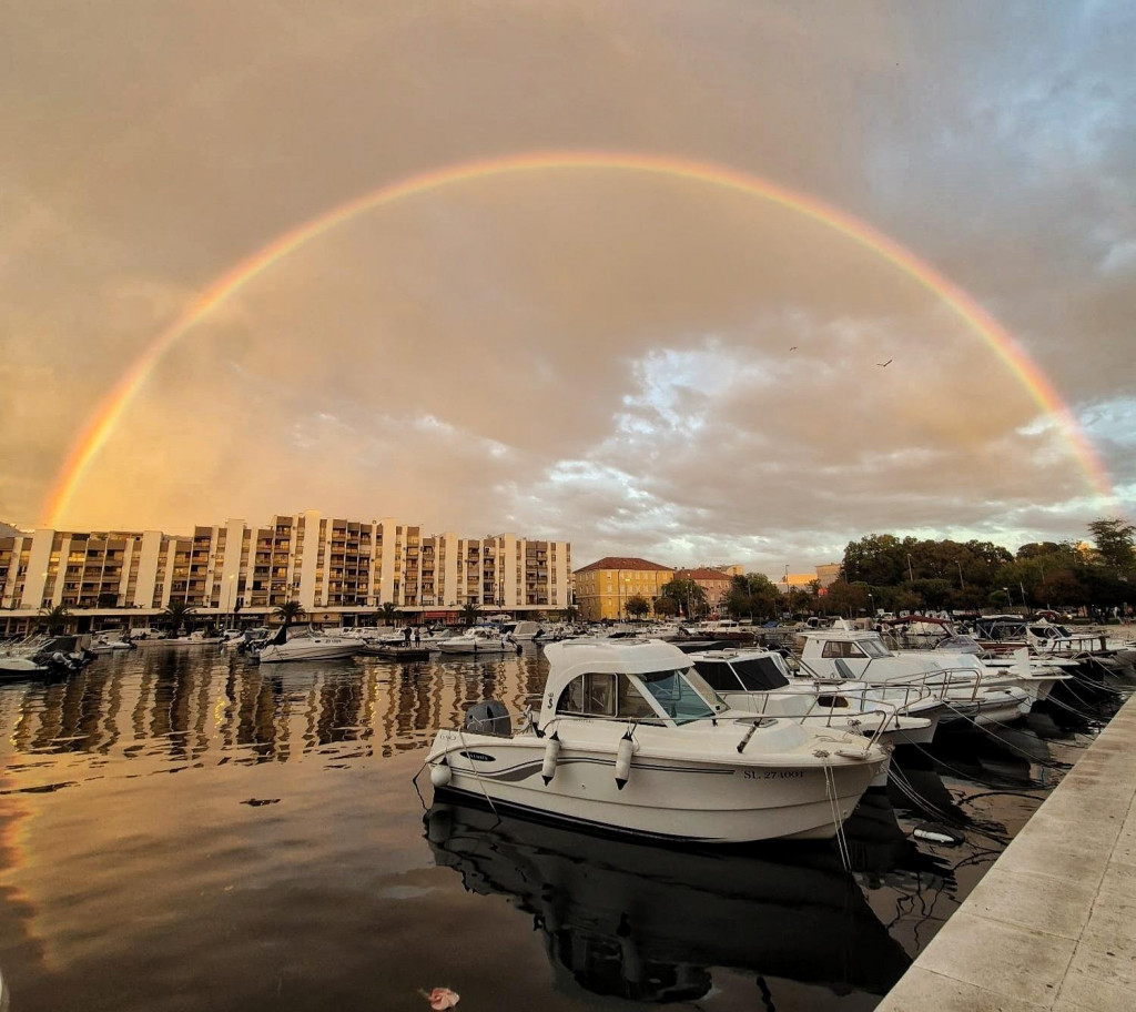
[[298,601],[316,621],[358,618],[391,603],[443,618],[467,604],[517,614],[571,603],[571,546],[516,534],[425,535],[394,518],[358,521],[315,510],[160,530],[0,536],[0,633],[26,632],[41,609],[83,625],[145,626],[181,602],[198,617],[264,618]]

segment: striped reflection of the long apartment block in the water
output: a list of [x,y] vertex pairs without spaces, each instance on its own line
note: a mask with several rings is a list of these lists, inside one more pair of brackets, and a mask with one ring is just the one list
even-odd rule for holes
[[210,754],[283,762],[348,744],[392,755],[426,747],[438,727],[460,726],[481,700],[498,697],[521,712],[544,671],[535,652],[437,664],[259,667],[219,651],[153,647],[100,659],[58,683],[9,689],[10,739],[18,752],[117,750],[170,762]]

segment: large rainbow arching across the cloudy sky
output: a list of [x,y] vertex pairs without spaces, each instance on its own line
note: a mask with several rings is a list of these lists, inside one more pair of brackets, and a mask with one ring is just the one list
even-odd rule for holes
[[92,461],[107,443],[123,412],[137,391],[145,384],[147,378],[162,356],[226,299],[241,291],[295,250],[358,215],[374,211],[409,196],[427,194],[458,183],[470,183],[478,179],[500,178],[525,173],[580,169],[641,173],[686,179],[765,200],[819,221],[877,254],[902,274],[933,292],[975,334],[982,337],[989,350],[1017,377],[1037,405],[1055,421],[1094,490],[1105,499],[1112,500],[1114,497],[1108,471],[1078,426],[1072,412],[1058,395],[1045,374],[1018,342],[966,292],[912,252],[886,235],[876,232],[871,226],[807,194],[710,162],[632,152],[540,151],[460,162],[385,184],[285,232],[214,281],[135,359],[87,420],[56,476],[44,505],[45,525],[48,527],[59,525],[61,516],[82,484]]

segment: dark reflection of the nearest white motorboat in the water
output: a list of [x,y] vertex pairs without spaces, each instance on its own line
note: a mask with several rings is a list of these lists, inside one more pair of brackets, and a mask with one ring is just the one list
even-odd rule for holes
[[[671,851],[444,802],[438,864],[532,914],[558,973],[600,995],[694,1001],[711,968],[883,994],[910,963],[828,847]],[[772,985],[774,989],[776,985]]]

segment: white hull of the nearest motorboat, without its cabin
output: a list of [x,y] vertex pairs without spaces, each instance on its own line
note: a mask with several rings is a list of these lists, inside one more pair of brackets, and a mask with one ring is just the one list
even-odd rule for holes
[[[616,753],[565,747],[552,779],[545,738],[438,731],[431,751],[437,789],[577,826],[678,842],[736,844],[828,839],[855,808],[882,760],[746,764],[636,755],[623,789]],[[448,770],[436,772],[445,760]],[[443,783],[444,781],[444,783]]]

